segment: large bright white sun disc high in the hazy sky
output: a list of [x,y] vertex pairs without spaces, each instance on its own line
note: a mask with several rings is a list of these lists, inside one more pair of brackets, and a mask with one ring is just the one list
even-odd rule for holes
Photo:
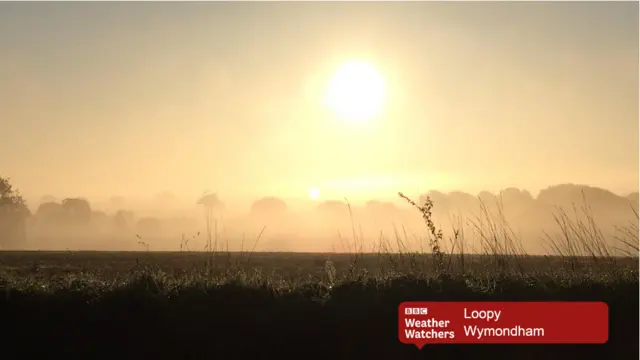
[[349,61],[329,81],[325,100],[341,119],[364,122],[382,113],[385,95],[385,80],[373,65]]

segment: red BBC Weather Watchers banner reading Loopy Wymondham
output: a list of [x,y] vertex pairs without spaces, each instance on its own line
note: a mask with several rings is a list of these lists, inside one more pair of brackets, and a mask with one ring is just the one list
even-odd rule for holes
[[427,344],[603,344],[604,302],[404,302],[398,337]]

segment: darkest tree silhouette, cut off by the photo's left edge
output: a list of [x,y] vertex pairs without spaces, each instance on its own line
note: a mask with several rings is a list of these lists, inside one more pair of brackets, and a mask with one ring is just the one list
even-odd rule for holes
[[8,178],[0,177],[0,247],[18,249],[27,239],[26,219],[29,209],[22,195]]

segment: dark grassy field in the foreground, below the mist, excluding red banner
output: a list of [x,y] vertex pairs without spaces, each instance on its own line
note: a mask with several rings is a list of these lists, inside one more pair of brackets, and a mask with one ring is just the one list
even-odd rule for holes
[[[476,256],[441,272],[432,259],[0,253],[0,358],[638,358],[637,259]],[[610,340],[418,350],[397,339],[409,300],[605,301]]]

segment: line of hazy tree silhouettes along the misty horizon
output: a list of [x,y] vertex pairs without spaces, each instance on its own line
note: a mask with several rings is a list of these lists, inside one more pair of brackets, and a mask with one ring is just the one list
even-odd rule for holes
[[[571,206],[576,200],[587,193],[590,203],[595,204],[596,212],[600,211],[604,217],[616,217],[618,213],[629,213],[629,205],[638,208],[638,194],[632,193],[626,197],[615,195],[607,190],[578,186],[578,185],[556,185],[543,189],[534,197],[526,190],[515,188],[505,189],[499,195],[483,191],[477,196],[464,192],[442,193],[430,191],[423,194],[419,201],[423,202],[427,197],[436,204],[434,216],[437,219],[446,221],[450,214],[469,209],[482,211],[480,205],[486,204],[495,207],[495,204],[502,204],[509,209],[511,221],[520,221],[524,218],[532,227],[539,226],[539,223],[532,221],[539,217],[541,213],[549,212],[551,205]],[[163,198],[169,195],[163,194]],[[122,206],[124,199],[117,198],[114,201]],[[207,217],[216,213],[221,213],[224,209],[223,202],[216,194],[203,194],[196,202],[207,210]],[[349,220],[354,213],[366,213],[370,220],[376,225],[381,225],[389,219],[402,218],[407,214],[406,209],[399,209],[394,203],[386,201],[371,200],[363,207],[350,207],[344,201],[329,200],[320,203],[314,214],[320,220]],[[409,214],[413,214],[410,213]],[[602,217],[601,216],[601,217]],[[277,197],[263,197],[252,203],[248,220],[257,220],[260,224],[270,221],[295,222],[285,201]],[[395,221],[395,220],[394,220]],[[65,198],[61,201],[46,196],[41,199],[41,203],[34,213],[29,210],[20,192],[12,186],[8,178],[0,177],[0,247],[2,249],[23,248],[27,240],[27,228],[39,229],[43,234],[64,234],[60,229],[71,229],[78,233],[85,229],[85,234],[95,231],[96,225],[108,227],[110,230],[121,234],[131,234],[131,232],[160,232],[163,223],[169,227],[190,228],[198,227],[199,224],[190,222],[189,219],[159,219],[155,217],[141,217],[136,219],[134,212],[118,209],[112,215],[107,215],[103,211],[92,209],[91,204],[84,198]],[[54,231],[55,230],[55,231]]]

